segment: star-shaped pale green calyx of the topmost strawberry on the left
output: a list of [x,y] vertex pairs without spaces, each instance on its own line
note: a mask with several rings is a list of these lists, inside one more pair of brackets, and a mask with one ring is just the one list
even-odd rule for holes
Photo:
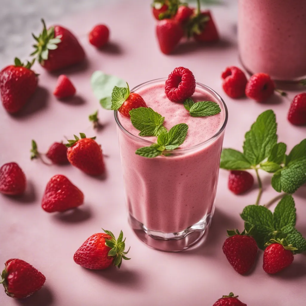
[[30,55],[37,55],[37,60],[39,63],[42,63],[44,60],[48,59],[49,50],[55,50],[58,48],[58,44],[62,41],[62,35],[54,37],[54,27],[51,27],[47,30],[45,21],[41,19],[43,23],[43,31],[39,36],[35,36],[32,33],[33,38],[36,40],[36,44],[33,45],[35,51]]

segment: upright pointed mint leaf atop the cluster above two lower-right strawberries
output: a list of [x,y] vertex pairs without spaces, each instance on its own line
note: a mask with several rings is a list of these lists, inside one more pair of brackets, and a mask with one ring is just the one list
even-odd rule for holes
[[280,200],[273,213],[274,228],[282,230],[285,226],[295,226],[296,209],[293,197],[286,195]]

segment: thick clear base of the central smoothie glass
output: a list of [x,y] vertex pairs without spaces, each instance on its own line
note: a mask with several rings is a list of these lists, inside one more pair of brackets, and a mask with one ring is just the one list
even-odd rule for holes
[[129,215],[129,223],[136,236],[149,247],[159,251],[179,252],[202,242],[207,237],[212,215],[206,215],[196,224],[177,233],[150,230],[132,215]]

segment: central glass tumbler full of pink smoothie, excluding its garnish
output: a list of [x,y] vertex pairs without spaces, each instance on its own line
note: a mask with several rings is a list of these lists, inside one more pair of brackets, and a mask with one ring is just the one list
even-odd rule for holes
[[138,136],[130,118],[118,111],[115,119],[130,225],[147,245],[163,251],[181,251],[206,236],[211,223],[227,108],[215,91],[197,83],[192,99],[216,102],[221,112],[210,117],[191,117],[182,103],[166,97],[165,81],[149,81],[132,91],[165,117],[166,129],[178,123],[188,124],[185,142],[170,156],[136,155],[137,149],[150,146],[156,138]]

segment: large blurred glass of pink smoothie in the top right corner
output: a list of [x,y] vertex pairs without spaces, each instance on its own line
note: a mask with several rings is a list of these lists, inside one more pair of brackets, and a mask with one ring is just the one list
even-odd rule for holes
[[306,76],[306,1],[239,0],[238,44],[251,74],[274,80]]

